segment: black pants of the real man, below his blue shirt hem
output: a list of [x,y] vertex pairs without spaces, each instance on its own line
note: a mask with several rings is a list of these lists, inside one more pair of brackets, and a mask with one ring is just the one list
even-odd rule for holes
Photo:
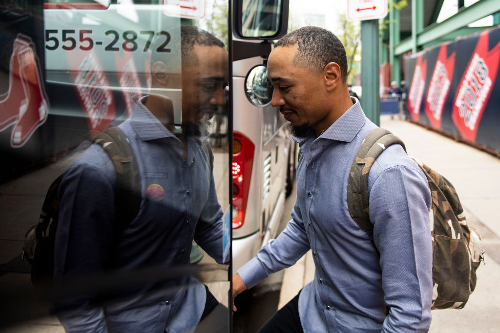
[[298,317],[298,296],[300,292],[269,318],[257,333],[303,333],[300,318]]

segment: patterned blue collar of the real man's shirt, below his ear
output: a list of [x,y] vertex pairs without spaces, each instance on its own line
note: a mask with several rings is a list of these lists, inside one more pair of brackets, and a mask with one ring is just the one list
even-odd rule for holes
[[[317,139],[329,139],[329,140],[337,140],[344,142],[351,142],[352,139],[359,132],[364,122],[366,121],[366,117],[364,116],[364,112],[361,109],[361,104],[355,97],[351,97],[352,103],[354,103],[351,107],[345,111],[340,118],[338,118],[333,124],[328,127],[326,131],[321,133],[317,137]],[[305,140],[311,139],[315,137],[314,132],[308,137],[297,138],[292,136],[293,140],[298,143],[301,143]]]

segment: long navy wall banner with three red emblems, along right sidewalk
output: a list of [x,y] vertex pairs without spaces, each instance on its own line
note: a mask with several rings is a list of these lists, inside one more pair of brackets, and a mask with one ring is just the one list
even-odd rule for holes
[[499,61],[499,27],[406,56],[407,116],[500,152]]

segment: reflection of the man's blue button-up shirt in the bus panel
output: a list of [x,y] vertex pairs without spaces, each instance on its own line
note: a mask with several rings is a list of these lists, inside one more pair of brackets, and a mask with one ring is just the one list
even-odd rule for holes
[[[55,281],[108,269],[188,265],[193,239],[221,263],[222,210],[199,139],[188,140],[184,160],[182,142],[140,102],[119,127],[138,163],[138,214],[115,242],[115,169],[104,150],[92,145],[60,184]],[[58,317],[71,332],[183,333],[198,323],[206,298],[202,284],[185,277],[151,289],[144,281],[144,286],[133,286],[143,292],[103,306],[92,305],[91,296],[61,303]],[[75,305],[78,309],[64,311]]]

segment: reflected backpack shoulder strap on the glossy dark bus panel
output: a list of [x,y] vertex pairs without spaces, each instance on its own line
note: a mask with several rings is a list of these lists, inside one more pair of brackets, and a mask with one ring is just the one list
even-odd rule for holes
[[104,149],[116,170],[115,214],[119,230],[124,230],[137,215],[141,199],[139,168],[132,146],[118,127],[109,127],[93,142]]

